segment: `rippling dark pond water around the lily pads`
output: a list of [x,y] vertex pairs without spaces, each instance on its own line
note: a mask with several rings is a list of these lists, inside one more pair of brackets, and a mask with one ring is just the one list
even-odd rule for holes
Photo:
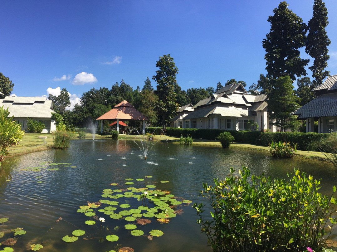
[[[5,232],[0,242],[12,238],[10,230],[20,227],[26,234],[16,236],[17,243],[12,246],[16,252],[30,249],[31,244],[42,244],[41,251],[109,251],[117,244],[135,251],[210,251],[206,235],[201,234],[196,223],[193,203],[182,203],[174,208],[183,213],[171,218],[169,223],[160,224],[153,217],[149,218],[150,224],[136,224],[137,229],[144,231],[140,237],[131,235],[130,230],[124,228],[134,221],[112,219],[93,209],[95,216],[105,218],[101,235],[100,222],[77,210],[88,202],[101,199],[128,203],[130,208],[137,208],[142,201],[125,197],[103,198],[102,191],[146,185],[170,191],[179,197],[177,200],[201,202],[203,199],[198,194],[203,182],[224,179],[231,166],[238,169],[241,165],[248,166],[255,175],[264,172],[267,176],[280,178],[286,178],[286,172],[293,172],[294,167],[299,168],[322,180],[322,193],[330,194],[333,185],[337,185],[337,170],[329,163],[300,158],[277,160],[266,152],[254,150],[186,147],[158,142],[147,160],[140,155],[139,147],[131,139],[107,139],[76,140],[67,150],[48,150],[7,159],[9,162],[3,163],[0,172],[0,218],[8,218],[8,221],[0,223],[0,232]],[[145,176],[152,178],[145,179]],[[128,178],[133,179],[134,184],[126,185]],[[136,181],[140,178],[145,180]],[[97,209],[107,206],[102,204]],[[125,209],[119,208],[116,212],[122,210]],[[55,222],[60,217],[62,220]],[[85,224],[87,220],[94,220],[96,224],[89,226]],[[115,230],[116,226],[119,228]],[[73,243],[62,241],[65,235],[72,236],[75,229],[85,230],[86,234]],[[151,230],[161,230],[164,234],[150,241],[145,235]],[[106,235],[112,233],[119,237],[117,242],[106,241]],[[105,241],[99,242],[100,237]],[[0,249],[3,247],[7,246],[1,245]]]

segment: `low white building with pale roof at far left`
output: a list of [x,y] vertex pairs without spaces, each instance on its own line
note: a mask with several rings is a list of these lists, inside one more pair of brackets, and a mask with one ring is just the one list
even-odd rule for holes
[[27,130],[27,121],[34,119],[44,124],[42,133],[51,133],[56,130],[55,121],[51,119],[53,103],[45,97],[14,97],[6,96],[0,99],[0,106],[8,107],[9,116],[21,123],[22,130]]

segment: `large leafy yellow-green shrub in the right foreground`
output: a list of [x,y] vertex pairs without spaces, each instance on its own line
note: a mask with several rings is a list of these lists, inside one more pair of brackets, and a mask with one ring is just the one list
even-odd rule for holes
[[285,181],[231,168],[224,181],[214,179],[214,186],[203,188],[199,196],[213,211],[208,216],[204,203],[193,208],[213,251],[305,251],[306,246],[318,251],[331,234],[325,228],[337,223],[331,218],[335,197],[318,193],[320,181],[299,170]]

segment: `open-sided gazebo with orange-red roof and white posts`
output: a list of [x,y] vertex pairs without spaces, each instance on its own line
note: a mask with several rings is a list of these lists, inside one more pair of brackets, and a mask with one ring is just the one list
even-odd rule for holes
[[104,120],[117,120],[117,131],[119,131],[119,120],[123,121],[143,121],[143,133],[145,132],[146,123],[148,121],[146,116],[137,111],[130,103],[127,101],[122,101],[121,103],[114,106],[113,109],[101,115],[96,120],[101,120],[101,133],[103,133],[103,121]]

